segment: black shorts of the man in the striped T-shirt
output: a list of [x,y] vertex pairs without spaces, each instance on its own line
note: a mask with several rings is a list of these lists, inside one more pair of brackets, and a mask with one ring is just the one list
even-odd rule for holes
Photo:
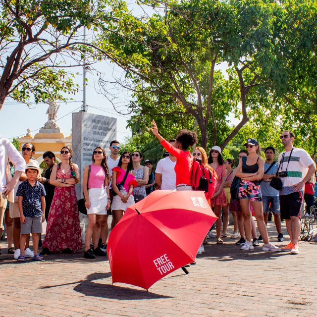
[[301,209],[303,204],[303,195],[296,192],[288,195],[279,196],[279,205],[281,218],[290,219],[291,216],[301,218]]

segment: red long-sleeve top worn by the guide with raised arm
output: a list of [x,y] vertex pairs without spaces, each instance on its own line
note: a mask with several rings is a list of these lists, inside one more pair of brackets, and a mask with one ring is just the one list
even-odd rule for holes
[[166,140],[162,140],[160,144],[174,157],[176,157],[175,173],[176,186],[179,184],[191,185],[191,169],[193,166],[193,157],[189,151],[176,149]]

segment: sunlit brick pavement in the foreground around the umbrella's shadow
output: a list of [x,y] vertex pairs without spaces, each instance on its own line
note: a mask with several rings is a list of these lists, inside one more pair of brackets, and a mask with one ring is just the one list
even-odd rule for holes
[[[269,231],[274,241],[272,223]],[[233,239],[216,245],[213,238],[189,275],[179,269],[149,292],[112,285],[109,264],[100,258],[78,252],[18,264],[0,245],[0,316],[317,316],[315,243],[301,242],[295,256],[242,252]]]

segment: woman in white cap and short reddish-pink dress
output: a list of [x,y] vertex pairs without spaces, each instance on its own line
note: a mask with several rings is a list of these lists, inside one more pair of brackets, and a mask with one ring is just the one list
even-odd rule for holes
[[217,244],[223,244],[223,241],[220,238],[222,226],[221,209],[223,206],[227,206],[227,198],[223,189],[227,171],[221,155],[221,149],[218,146],[211,148],[208,163],[216,171],[218,176],[216,188],[211,198],[211,206],[214,207],[214,214],[218,217],[216,221]]

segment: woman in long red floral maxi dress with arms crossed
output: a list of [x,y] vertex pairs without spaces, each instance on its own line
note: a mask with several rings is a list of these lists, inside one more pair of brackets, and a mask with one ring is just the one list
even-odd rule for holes
[[81,230],[75,184],[79,182],[79,169],[71,161],[69,147],[60,151],[61,163],[52,169],[50,183],[55,186],[49,213],[42,255],[62,251],[73,253],[82,248]]

